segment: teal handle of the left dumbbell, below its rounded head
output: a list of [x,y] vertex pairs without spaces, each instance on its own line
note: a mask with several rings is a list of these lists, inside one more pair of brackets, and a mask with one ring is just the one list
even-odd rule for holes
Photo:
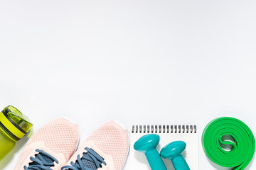
[[157,152],[156,149],[147,151],[145,155],[151,170],[166,170],[163,159],[161,159],[159,152]]

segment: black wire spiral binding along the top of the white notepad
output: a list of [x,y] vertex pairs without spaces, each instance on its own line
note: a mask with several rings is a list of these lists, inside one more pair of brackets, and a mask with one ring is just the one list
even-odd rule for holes
[[132,133],[196,133],[196,125],[132,125]]

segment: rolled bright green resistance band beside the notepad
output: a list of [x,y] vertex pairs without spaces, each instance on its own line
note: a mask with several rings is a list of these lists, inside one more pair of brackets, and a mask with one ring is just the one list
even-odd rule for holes
[[235,118],[217,118],[206,126],[202,135],[203,149],[219,166],[245,169],[255,152],[255,138],[250,128]]

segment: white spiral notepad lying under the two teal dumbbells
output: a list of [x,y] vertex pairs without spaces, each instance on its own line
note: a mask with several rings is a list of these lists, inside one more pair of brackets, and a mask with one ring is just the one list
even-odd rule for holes
[[[134,143],[142,136],[147,134],[157,134],[160,142],[156,148],[159,152],[161,148],[174,142],[182,140],[186,142],[186,149],[183,157],[186,159],[191,170],[198,170],[198,132],[196,125],[132,125],[130,132],[131,149],[129,154],[130,170],[150,170],[149,164],[143,153],[134,150]],[[171,160],[164,159],[164,164],[168,170],[174,170]]]

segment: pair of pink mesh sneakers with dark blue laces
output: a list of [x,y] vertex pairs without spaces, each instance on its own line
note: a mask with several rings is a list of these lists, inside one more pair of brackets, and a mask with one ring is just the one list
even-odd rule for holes
[[24,147],[14,170],[120,170],[129,152],[127,130],[115,121],[97,128],[78,148],[78,125],[58,118]]

